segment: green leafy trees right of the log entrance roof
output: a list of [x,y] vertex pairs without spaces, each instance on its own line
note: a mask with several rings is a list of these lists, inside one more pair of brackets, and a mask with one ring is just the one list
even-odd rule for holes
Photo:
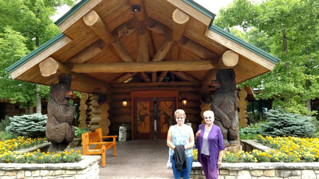
[[319,96],[319,1],[234,0],[214,24],[255,27],[244,39],[281,59],[271,72],[244,82],[261,90],[257,99],[274,98],[273,107],[311,114],[310,99]]

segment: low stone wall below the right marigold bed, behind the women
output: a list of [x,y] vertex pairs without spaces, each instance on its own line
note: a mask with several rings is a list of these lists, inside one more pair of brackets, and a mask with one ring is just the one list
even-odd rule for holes
[[[191,176],[205,179],[199,162],[193,162]],[[222,163],[218,179],[319,179],[319,162]]]

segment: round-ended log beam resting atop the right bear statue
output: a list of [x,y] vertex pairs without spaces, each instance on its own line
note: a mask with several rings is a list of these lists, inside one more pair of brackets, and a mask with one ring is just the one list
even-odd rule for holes
[[226,51],[218,60],[217,68],[210,69],[207,75],[202,80],[201,86],[208,86],[211,84],[211,80],[216,79],[216,73],[219,69],[233,68],[238,63],[239,55],[232,51]]

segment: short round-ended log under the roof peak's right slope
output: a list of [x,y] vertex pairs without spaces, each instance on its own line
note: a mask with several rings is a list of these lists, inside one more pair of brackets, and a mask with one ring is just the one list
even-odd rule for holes
[[189,15],[180,9],[175,9],[172,15],[172,39],[182,39]]

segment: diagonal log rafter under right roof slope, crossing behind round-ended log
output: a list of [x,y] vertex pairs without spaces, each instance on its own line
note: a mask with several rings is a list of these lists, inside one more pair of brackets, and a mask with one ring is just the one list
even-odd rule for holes
[[[152,32],[163,34],[166,37],[172,36],[171,28],[149,16],[146,17],[146,28]],[[197,42],[185,36],[183,36],[182,39],[178,40],[177,43],[180,46],[187,48],[189,51],[191,51],[193,54],[196,54],[201,59],[214,59],[220,57],[219,54],[216,54],[210,49],[198,44]]]

